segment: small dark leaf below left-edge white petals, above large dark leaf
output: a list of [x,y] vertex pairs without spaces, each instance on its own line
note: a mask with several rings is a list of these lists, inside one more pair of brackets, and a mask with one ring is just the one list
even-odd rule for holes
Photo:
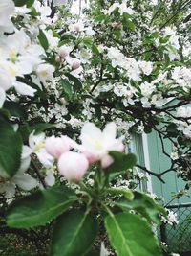
[[6,101],[4,103],[4,107],[10,111],[11,116],[27,119],[27,112],[25,111],[22,105],[19,105],[18,103],[15,103],[15,102]]

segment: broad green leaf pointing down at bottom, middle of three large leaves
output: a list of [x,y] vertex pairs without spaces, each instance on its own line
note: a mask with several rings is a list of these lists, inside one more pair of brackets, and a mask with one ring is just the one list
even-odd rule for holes
[[71,211],[62,215],[53,230],[52,256],[83,256],[96,239],[97,223],[92,215]]

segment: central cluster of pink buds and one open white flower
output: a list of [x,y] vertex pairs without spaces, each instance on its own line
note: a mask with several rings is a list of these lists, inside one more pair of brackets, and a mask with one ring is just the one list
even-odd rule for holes
[[68,136],[49,137],[45,141],[46,151],[58,159],[58,171],[68,180],[80,180],[89,164],[101,162],[107,168],[113,163],[109,151],[124,151],[121,138],[116,139],[115,123],[108,124],[101,132],[93,123],[86,123],[80,135],[81,144]]

